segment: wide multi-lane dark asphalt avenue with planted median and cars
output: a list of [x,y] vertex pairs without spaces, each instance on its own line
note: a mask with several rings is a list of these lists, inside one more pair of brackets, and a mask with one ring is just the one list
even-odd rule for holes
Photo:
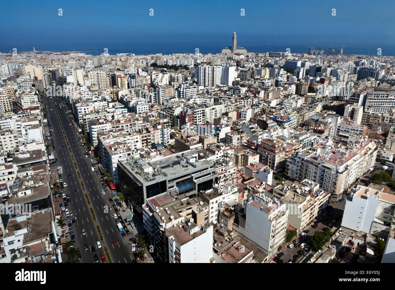
[[[62,107],[56,107],[69,142],[69,146],[73,153],[73,161],[58,122],[55,107],[52,103],[52,100],[56,101],[57,99],[56,97],[53,97],[53,99],[43,97],[43,100],[47,103],[48,116],[51,117],[49,119],[49,122],[52,125],[51,129],[54,129],[52,132],[52,138],[55,143],[55,157],[58,158],[58,162],[55,166],[62,166],[62,182],[67,183],[67,187],[65,187],[66,192],[64,193],[68,193],[70,195],[71,204],[69,205],[68,210],[72,210],[73,213],[77,213],[77,223],[73,225],[73,230],[75,234],[75,245],[81,249],[82,259],[80,262],[94,262],[92,252],[90,249],[84,251],[83,244],[87,243],[90,247],[93,245],[97,249],[96,243],[100,238],[96,230],[96,225],[100,226],[104,237],[104,241],[101,243],[102,245],[104,244],[107,246],[113,262],[133,262],[134,257],[130,250],[128,239],[134,236],[135,232],[131,231],[131,235],[126,236],[126,238],[122,238],[112,217],[115,213],[114,210],[105,212],[105,206],[113,206],[113,203],[109,202],[109,198],[113,196],[108,193],[106,195],[102,195],[100,193],[100,189],[103,188],[100,183],[101,179],[97,176],[95,171],[91,171],[92,165],[90,163],[90,159],[92,158],[85,157],[85,149],[81,145],[82,143],[78,141],[77,130],[73,129],[73,125],[76,126],[76,124],[70,121],[70,116],[66,113],[64,105],[62,105]],[[72,123],[72,125],[69,127],[70,123]],[[63,145],[65,148],[62,148]],[[58,146],[60,146],[60,149]],[[73,162],[77,163],[77,169],[75,169]],[[81,180],[83,181],[85,190],[88,193],[90,205],[88,205],[85,198],[85,193],[78,178],[77,170],[81,174]],[[71,174],[70,178],[68,177],[69,174]],[[91,186],[94,188],[92,189]],[[77,190],[76,194],[73,194],[74,189]],[[60,198],[59,203],[60,202],[63,202],[62,198]],[[56,204],[56,206],[58,206],[58,203]],[[90,207],[94,209],[97,223],[92,219]],[[82,228],[85,228],[85,231],[87,232],[86,235],[82,235]],[[129,229],[131,230],[130,227]],[[114,245],[113,241],[117,241],[117,245]],[[98,254],[99,257],[100,252],[104,252],[103,246],[102,249],[96,250],[96,254]]]

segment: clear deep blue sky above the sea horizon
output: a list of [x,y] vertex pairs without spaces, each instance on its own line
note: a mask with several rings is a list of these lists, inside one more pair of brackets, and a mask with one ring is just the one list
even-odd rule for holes
[[[395,1],[12,1],[2,46],[218,42],[394,43]],[[376,2],[378,3],[378,2]],[[58,9],[63,16],[58,16]],[[149,9],[154,16],[149,16]],[[245,9],[245,16],[240,9]],[[336,16],[332,16],[332,9]]]

